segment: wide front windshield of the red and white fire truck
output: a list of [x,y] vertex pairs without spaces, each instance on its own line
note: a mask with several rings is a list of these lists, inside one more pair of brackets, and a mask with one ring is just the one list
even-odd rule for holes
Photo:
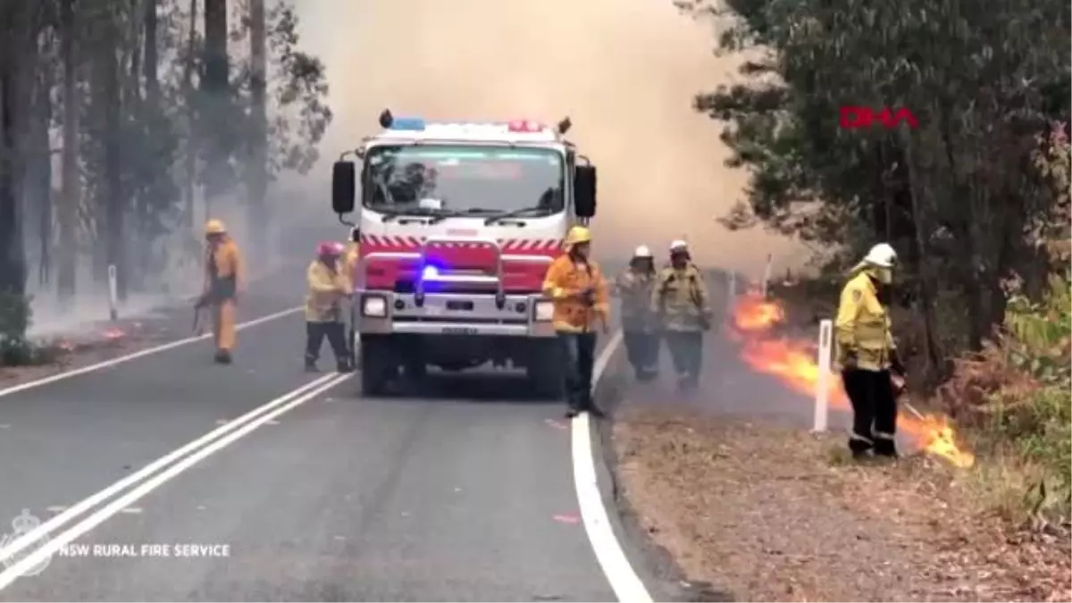
[[562,211],[562,153],[475,145],[379,146],[368,150],[362,202],[376,211],[530,216]]

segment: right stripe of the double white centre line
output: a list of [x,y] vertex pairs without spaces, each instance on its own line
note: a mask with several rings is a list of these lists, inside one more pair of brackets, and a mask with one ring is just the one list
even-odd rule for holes
[[86,517],[81,521],[78,521],[77,524],[71,526],[66,530],[60,532],[58,535],[51,536],[48,540],[47,544],[45,544],[41,548],[33,550],[33,553],[30,553],[29,555],[20,559],[17,563],[14,563],[3,572],[0,572],[0,590],[3,590],[4,588],[11,586],[11,583],[18,579],[18,577],[23,575],[23,573],[26,572],[27,570],[30,570],[38,563],[41,563],[45,559],[48,559],[50,556],[55,555],[59,549],[63,548],[68,544],[71,544],[71,542],[73,542],[78,536],[85,534],[89,530],[92,530],[96,526],[103,524],[105,520],[107,520],[116,513],[119,513],[123,509],[131,506],[138,500],[145,498],[152,490],[155,490],[157,488],[163,486],[164,484],[173,480],[175,476],[190,469],[200,460],[207,458],[209,455],[223,450],[225,446],[235,442],[239,438],[248,436],[249,433],[253,432],[254,429],[260,427],[262,425],[271,421],[272,418],[287,411],[291,411],[308,402],[309,400],[319,396],[321,394],[331,389],[336,385],[339,385],[340,383],[349,379],[351,376],[331,373],[327,377],[330,377],[330,379],[328,379],[327,382],[322,383],[319,386],[313,389],[307,391],[306,394],[302,395],[301,397],[291,400],[285,406],[280,407],[273,410],[272,412],[243,425],[234,433],[220,438],[219,440],[200,448],[199,451],[180,460],[179,462],[176,462],[172,467],[168,467],[166,470],[162,471],[159,475],[150,480],[147,480],[145,483],[138,485],[136,488],[119,497],[118,499],[111,501],[104,509],[101,509],[96,513],[93,513],[89,517]]

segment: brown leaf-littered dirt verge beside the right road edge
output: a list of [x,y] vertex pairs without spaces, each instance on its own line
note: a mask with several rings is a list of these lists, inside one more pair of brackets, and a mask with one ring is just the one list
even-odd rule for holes
[[962,470],[854,464],[844,436],[627,408],[624,496],[683,578],[735,601],[1072,601],[1072,542],[978,511]]

